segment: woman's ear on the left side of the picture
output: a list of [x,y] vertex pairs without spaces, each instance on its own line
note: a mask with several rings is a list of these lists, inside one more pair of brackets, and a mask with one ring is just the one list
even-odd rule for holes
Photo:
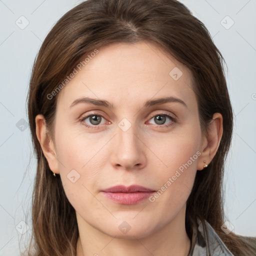
[[36,129],[35,129],[36,136],[42,148],[43,154],[49,164],[49,168],[54,173],[59,173],[58,161],[56,157],[54,144],[46,129],[46,122],[43,115],[41,114],[36,115],[35,125],[36,125]]

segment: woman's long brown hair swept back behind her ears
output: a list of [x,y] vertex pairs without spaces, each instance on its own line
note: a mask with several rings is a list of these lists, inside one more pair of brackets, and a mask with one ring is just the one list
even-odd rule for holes
[[223,135],[216,155],[205,170],[197,171],[187,200],[188,236],[191,238],[191,227],[199,217],[211,224],[234,255],[252,255],[256,248],[252,238],[232,232],[226,235],[220,229],[224,217],[223,166],[233,125],[224,60],[204,24],[176,0],[87,0],[65,13],[44,39],[33,65],[27,102],[37,156],[29,244],[31,247],[34,241],[33,255],[74,256],[79,235],[75,210],[66,198],[59,175],[52,175],[36,138],[35,116],[42,114],[52,131],[58,93],[50,99],[49,94],[81,57],[113,42],[139,40],[155,43],[191,70],[203,132],[213,113],[223,116]]

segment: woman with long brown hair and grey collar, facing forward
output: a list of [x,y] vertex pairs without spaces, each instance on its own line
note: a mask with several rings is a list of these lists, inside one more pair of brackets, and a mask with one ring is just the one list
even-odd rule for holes
[[223,220],[233,115],[222,56],[183,4],[68,11],[34,63],[28,116],[34,255],[256,253]]

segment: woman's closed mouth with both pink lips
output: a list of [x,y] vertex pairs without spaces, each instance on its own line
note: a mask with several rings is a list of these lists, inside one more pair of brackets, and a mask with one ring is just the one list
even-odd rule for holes
[[155,190],[140,185],[117,185],[103,189],[101,192],[116,203],[136,204],[147,199]]

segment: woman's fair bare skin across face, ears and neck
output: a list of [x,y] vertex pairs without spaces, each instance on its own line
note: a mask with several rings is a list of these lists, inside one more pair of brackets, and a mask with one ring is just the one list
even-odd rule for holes
[[[216,153],[222,116],[213,115],[206,137],[199,125],[190,71],[156,45],[118,42],[98,50],[59,92],[54,139],[45,135],[43,116],[35,118],[49,167],[60,174],[76,210],[77,256],[187,255],[186,200],[196,170],[204,171],[203,161],[208,164]],[[182,71],[177,80],[169,75],[174,67]],[[70,107],[85,96],[105,99],[114,108],[85,102]],[[167,102],[144,107],[146,100],[164,96],[179,98],[186,106]],[[88,117],[79,120],[89,114],[102,116],[99,124]],[[156,119],[157,115],[164,118],[163,114],[177,119]],[[128,120],[125,127],[131,125],[126,131],[118,126],[123,118]],[[117,184],[139,184],[157,191],[196,152],[200,155],[153,202],[145,199],[124,205],[100,192]],[[74,183],[67,178],[72,169],[80,175]],[[126,233],[118,228],[123,221],[130,227]]]

